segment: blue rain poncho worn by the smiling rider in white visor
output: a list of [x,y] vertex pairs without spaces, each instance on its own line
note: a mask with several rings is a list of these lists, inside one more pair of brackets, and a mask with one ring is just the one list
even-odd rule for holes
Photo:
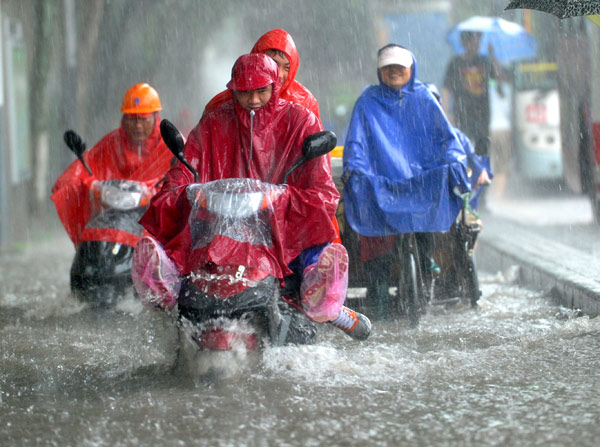
[[348,223],[363,236],[445,232],[469,191],[467,160],[434,96],[416,79],[380,82],[356,101],[344,147]]

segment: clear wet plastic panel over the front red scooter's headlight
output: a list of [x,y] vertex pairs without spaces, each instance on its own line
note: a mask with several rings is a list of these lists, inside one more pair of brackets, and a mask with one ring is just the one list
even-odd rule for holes
[[247,178],[189,185],[192,249],[205,247],[216,236],[270,247],[273,202],[284,190]]

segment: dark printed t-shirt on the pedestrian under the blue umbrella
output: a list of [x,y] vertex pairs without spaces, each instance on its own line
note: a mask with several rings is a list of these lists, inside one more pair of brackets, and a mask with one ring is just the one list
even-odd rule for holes
[[452,112],[456,127],[472,141],[489,136],[490,101],[488,81],[492,75],[490,61],[484,56],[466,60],[455,56],[450,60],[444,87],[452,93]]

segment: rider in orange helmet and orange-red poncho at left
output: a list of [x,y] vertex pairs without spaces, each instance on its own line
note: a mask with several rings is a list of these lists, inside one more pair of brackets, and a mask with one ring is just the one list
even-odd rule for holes
[[121,127],[83,154],[92,175],[75,160],[56,180],[51,199],[75,247],[102,240],[133,247],[139,241],[140,235],[122,229],[86,227],[92,214],[90,189],[97,180],[127,179],[146,183],[149,196],[157,191],[173,158],[160,136],[160,110],[154,88],[145,83],[131,87],[123,97]]

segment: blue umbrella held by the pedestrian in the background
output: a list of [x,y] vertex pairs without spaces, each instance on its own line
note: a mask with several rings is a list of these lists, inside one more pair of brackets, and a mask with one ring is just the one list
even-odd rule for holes
[[481,33],[479,54],[488,56],[488,46],[491,44],[494,56],[503,65],[531,59],[537,53],[535,37],[518,23],[499,17],[474,16],[460,22],[448,33],[448,43],[457,54],[465,52],[460,42],[460,33],[463,31]]

